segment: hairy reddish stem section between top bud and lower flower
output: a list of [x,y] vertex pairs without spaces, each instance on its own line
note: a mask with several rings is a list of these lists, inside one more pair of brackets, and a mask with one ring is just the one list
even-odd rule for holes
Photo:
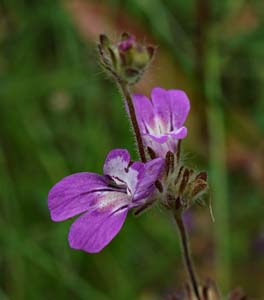
[[142,141],[142,137],[140,134],[140,129],[139,129],[139,125],[137,122],[137,117],[136,117],[136,112],[135,112],[135,108],[134,108],[134,104],[133,104],[133,100],[129,91],[129,87],[127,84],[125,83],[119,83],[120,89],[125,97],[127,106],[128,106],[128,110],[129,110],[129,115],[130,115],[130,119],[131,119],[131,123],[135,132],[135,136],[136,136],[136,140],[137,140],[137,146],[138,146],[138,151],[139,151],[139,155],[141,158],[141,161],[146,162],[146,154],[145,154],[145,150],[144,150],[144,145],[143,145],[143,141]]

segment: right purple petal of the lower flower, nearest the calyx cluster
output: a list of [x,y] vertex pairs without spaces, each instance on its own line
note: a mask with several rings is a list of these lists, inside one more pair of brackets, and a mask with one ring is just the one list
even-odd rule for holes
[[154,191],[154,184],[164,169],[164,164],[165,160],[163,158],[156,158],[145,163],[144,173],[139,178],[133,201],[139,201],[151,196]]

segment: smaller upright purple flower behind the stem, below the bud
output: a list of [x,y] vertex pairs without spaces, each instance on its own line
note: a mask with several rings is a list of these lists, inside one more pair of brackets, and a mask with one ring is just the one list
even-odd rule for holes
[[144,95],[133,95],[137,120],[146,147],[164,157],[176,152],[178,141],[187,135],[183,126],[190,110],[190,101],[181,90],[153,88],[151,100]]

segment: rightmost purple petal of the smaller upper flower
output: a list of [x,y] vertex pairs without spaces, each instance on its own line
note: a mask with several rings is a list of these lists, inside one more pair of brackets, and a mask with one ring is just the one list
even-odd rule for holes
[[169,90],[167,93],[170,99],[172,128],[175,130],[184,124],[190,111],[190,101],[184,91]]

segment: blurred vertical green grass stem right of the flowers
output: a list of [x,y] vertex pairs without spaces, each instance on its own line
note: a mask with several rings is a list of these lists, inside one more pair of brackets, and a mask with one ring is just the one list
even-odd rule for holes
[[[221,282],[222,289],[230,289],[231,249],[230,249],[230,214],[228,203],[228,171],[226,166],[226,128],[224,111],[220,105],[222,99],[220,53],[218,32],[209,32],[208,50],[205,67],[205,95],[207,103],[207,122],[209,131],[209,164],[211,193],[213,195],[213,213],[216,224],[216,269],[217,282]],[[221,226],[220,226],[221,223]]]

